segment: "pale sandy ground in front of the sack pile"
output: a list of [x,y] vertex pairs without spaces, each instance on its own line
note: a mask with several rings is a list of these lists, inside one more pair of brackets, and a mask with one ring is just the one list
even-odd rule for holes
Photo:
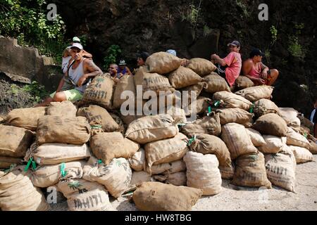
[[[317,211],[317,155],[316,162],[297,165],[297,193],[274,187],[270,190],[241,188],[223,180],[223,191],[219,195],[201,198],[193,211]],[[118,211],[135,211],[128,198],[111,198]],[[67,203],[51,205],[53,211],[67,211]]]

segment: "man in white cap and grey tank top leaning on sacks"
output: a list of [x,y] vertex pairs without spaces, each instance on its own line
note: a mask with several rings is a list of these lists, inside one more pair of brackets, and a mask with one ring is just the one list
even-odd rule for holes
[[[74,43],[70,49],[75,61],[73,65],[68,67],[68,72],[66,73],[68,76],[64,75],[57,91],[51,94],[49,98],[46,98],[43,103],[37,105],[37,107],[49,105],[52,101],[80,101],[90,80],[97,75],[102,75],[102,71],[92,60],[83,57],[84,50],[81,44]],[[73,86],[66,91],[61,91],[66,80],[69,80]]]

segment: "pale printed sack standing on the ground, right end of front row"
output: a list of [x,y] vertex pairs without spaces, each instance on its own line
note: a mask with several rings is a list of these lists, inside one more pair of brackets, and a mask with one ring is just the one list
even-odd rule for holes
[[287,152],[266,155],[266,174],[273,185],[295,192],[296,163],[292,157],[292,153]]

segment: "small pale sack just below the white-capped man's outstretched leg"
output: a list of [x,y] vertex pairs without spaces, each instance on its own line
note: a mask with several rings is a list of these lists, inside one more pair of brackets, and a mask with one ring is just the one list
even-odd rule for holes
[[61,103],[52,102],[47,107],[47,115],[54,115],[56,117],[76,117],[77,108],[70,101],[63,101]]

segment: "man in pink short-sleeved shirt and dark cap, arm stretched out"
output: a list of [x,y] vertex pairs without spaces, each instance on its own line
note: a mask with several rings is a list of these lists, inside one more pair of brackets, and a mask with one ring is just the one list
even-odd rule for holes
[[242,59],[239,41],[232,41],[228,44],[230,53],[225,58],[220,58],[218,55],[213,54],[211,56],[211,62],[218,64],[218,75],[225,78],[228,84],[232,87],[235,84],[235,80],[239,77],[242,68]]

